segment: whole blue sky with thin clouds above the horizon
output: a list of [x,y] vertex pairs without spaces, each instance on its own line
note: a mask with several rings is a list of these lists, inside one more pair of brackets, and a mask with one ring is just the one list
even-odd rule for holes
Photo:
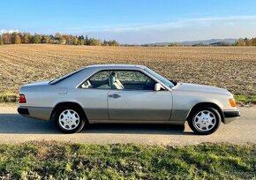
[[256,36],[255,0],[2,1],[0,30],[87,34],[122,43]]

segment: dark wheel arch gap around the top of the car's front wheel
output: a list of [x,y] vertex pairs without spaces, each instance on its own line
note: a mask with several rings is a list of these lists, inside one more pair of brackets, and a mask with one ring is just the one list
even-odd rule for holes
[[192,109],[190,109],[188,115],[186,116],[186,121],[188,121],[191,117],[192,117],[192,114],[193,112],[196,110],[196,109],[199,109],[199,108],[202,108],[202,107],[208,107],[208,108],[214,108],[216,109],[220,116],[221,116],[221,121],[223,122],[224,120],[224,114],[222,112],[222,109],[217,105],[215,104],[214,102],[200,102],[200,103],[197,103],[195,104]]

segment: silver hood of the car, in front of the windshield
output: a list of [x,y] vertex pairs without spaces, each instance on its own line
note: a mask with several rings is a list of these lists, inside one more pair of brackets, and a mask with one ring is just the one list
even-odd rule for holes
[[174,86],[173,90],[208,93],[208,94],[231,95],[227,89],[223,89],[215,86],[205,86],[205,85],[197,85],[197,84],[190,84],[190,83],[177,83],[177,86]]

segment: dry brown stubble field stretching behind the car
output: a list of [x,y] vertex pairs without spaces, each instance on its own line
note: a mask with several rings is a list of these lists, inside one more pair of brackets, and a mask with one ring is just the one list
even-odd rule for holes
[[256,48],[0,46],[0,94],[54,79],[88,64],[144,64],[169,79],[256,94]]

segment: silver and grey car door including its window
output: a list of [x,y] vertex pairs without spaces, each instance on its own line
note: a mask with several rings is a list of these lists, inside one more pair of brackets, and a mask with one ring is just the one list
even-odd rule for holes
[[141,71],[111,71],[110,74],[116,76],[116,86],[110,80],[110,121],[169,120],[172,95],[168,90],[154,91],[155,81]]

